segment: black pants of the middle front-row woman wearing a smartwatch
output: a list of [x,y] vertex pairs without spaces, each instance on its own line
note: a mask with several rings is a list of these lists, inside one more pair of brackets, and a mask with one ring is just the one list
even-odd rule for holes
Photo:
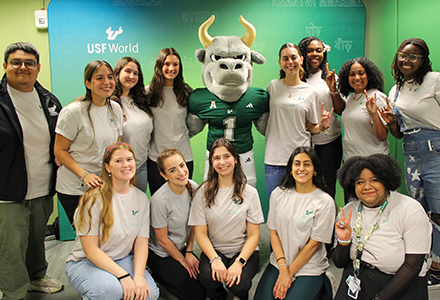
[[[234,262],[235,258],[240,254],[237,253],[232,258],[227,258],[222,253],[217,251],[218,256],[222,258],[226,268],[229,268]],[[254,251],[249,257],[246,265],[241,272],[240,284],[235,284],[232,287],[227,287],[228,290],[237,296],[241,300],[247,300],[249,298],[249,290],[252,286],[252,278],[257,274],[258,267],[260,265],[260,252]],[[211,264],[209,258],[202,252],[200,256],[200,283],[205,287],[206,294],[211,300],[226,300],[227,293],[223,288],[223,283],[212,280]]]

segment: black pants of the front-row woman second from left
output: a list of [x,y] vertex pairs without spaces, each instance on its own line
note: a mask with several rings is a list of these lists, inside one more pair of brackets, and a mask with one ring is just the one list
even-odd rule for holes
[[[182,254],[185,255],[184,248]],[[180,300],[205,300],[205,290],[198,280],[171,256],[162,258],[154,251],[148,252],[147,265],[153,271],[153,278]]]

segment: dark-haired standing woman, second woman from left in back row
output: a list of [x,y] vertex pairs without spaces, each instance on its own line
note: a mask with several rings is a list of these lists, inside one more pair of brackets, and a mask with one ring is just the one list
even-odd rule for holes
[[147,158],[153,131],[153,113],[147,100],[141,64],[123,57],[115,65],[115,91],[112,99],[124,112],[122,141],[136,152],[136,186],[147,191]]

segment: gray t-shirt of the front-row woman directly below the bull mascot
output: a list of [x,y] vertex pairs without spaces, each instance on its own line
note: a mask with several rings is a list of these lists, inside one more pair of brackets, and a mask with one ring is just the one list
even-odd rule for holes
[[203,185],[194,197],[188,225],[207,225],[208,238],[214,249],[231,258],[243,249],[247,239],[247,221],[253,224],[264,222],[260,197],[257,190],[247,184],[243,202],[236,204],[232,201],[232,185],[219,189],[215,204],[208,208],[205,205],[205,187]]

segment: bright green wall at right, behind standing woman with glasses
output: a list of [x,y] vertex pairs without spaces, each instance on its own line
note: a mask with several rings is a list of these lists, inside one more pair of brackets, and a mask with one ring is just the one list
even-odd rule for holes
[[[438,18],[438,0],[363,0],[367,12],[365,56],[371,59],[385,75],[385,93],[394,84],[390,65],[400,43],[407,38],[422,38],[430,49],[434,71],[440,66],[440,40],[435,20]],[[391,155],[403,167],[402,140],[389,134]],[[406,193],[404,185],[400,188]]]

